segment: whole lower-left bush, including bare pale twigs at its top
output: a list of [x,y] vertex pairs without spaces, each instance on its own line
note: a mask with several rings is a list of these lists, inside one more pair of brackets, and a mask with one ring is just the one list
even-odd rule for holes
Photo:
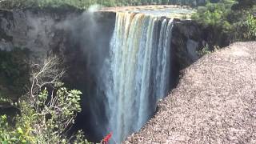
[[31,70],[30,89],[12,102],[19,114],[13,124],[6,115],[0,115],[0,142],[11,143],[74,143],[86,142],[81,131],[67,137],[76,114],[81,111],[78,90],[68,90],[59,82],[64,71],[58,68],[57,57],[46,58],[42,65],[35,64]]

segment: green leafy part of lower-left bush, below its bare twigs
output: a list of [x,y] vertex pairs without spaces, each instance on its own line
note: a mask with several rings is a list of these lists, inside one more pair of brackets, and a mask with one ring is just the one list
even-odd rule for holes
[[[81,92],[59,88],[52,102],[48,99],[48,90],[38,94],[38,102],[31,106],[27,98],[20,100],[21,115],[16,117],[16,125],[10,126],[6,115],[0,118],[0,142],[4,143],[67,143],[65,130],[74,123],[76,112],[81,110],[79,105]],[[80,131],[76,142],[83,142]]]

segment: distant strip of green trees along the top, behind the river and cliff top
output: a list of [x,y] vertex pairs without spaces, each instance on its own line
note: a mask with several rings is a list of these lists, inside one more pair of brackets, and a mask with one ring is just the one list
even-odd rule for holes
[[178,4],[196,6],[197,0],[3,0],[2,8],[73,6],[87,9],[94,4],[102,6],[138,6],[150,4]]

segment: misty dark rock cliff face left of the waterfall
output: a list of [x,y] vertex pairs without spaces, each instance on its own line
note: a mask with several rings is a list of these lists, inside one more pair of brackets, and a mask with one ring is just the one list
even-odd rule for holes
[[[82,90],[83,112],[77,123],[92,139],[100,134],[94,129],[91,106],[100,106],[104,101],[94,98],[95,79],[108,54],[114,23],[115,14],[110,12],[0,10],[0,53],[26,48],[33,62],[42,61],[50,51],[58,54],[67,71],[63,81],[72,89]],[[0,82],[0,90],[4,85]],[[102,111],[100,108],[98,113]]]

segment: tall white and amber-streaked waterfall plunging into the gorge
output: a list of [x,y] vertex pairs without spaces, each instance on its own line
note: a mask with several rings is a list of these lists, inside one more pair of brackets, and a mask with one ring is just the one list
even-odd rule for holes
[[[117,13],[104,87],[114,141],[138,131],[154,114],[170,82],[172,21],[147,14]],[[103,71],[103,70],[102,70]]]

